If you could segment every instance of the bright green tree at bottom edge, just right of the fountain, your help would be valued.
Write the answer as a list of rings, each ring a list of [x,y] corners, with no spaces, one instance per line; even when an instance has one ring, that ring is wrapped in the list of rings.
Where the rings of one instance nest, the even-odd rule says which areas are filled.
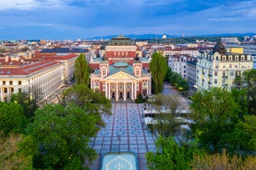
[[[193,153],[196,153],[196,147],[179,146],[175,143],[173,137],[159,137],[156,140],[156,153],[148,152],[146,154],[147,167],[150,170],[175,170],[190,169]],[[189,144],[188,144],[189,145]]]

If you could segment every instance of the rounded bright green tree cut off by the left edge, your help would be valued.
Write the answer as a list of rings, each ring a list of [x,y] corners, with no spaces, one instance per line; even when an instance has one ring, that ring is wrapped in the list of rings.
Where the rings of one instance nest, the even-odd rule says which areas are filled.
[[[26,124],[27,120],[20,104],[0,102],[0,131],[5,136],[10,132],[23,133]]]

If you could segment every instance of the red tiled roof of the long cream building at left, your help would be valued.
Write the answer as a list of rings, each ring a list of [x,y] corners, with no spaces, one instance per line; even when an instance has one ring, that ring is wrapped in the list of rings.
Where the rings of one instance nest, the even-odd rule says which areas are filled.
[[[44,70],[47,67],[58,65],[59,62],[41,61],[17,68],[0,68],[0,76],[26,76],[36,71]]]

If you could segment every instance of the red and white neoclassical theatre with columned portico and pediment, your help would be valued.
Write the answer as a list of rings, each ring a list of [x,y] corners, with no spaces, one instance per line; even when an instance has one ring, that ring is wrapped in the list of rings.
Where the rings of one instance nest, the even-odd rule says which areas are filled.
[[[149,58],[137,57],[133,40],[119,35],[105,47],[104,57],[91,58],[91,89],[115,101],[137,99],[151,94]]]

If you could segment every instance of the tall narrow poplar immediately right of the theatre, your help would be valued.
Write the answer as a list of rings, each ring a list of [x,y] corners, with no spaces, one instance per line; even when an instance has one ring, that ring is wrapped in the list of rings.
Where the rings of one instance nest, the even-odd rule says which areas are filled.
[[[161,53],[153,53],[149,67],[154,82],[155,94],[159,94],[164,89],[164,80],[168,69],[165,57]]]

